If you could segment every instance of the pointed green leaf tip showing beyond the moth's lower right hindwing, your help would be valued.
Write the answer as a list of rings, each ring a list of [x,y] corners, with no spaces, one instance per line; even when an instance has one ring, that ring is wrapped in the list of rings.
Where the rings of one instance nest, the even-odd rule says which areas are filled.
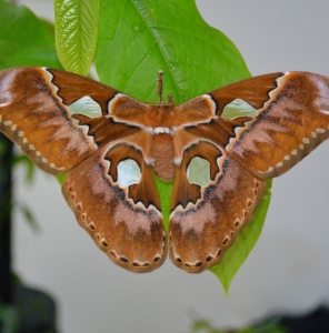
[[[271,201],[271,180],[267,181],[267,191],[250,223],[242,229],[232,246],[225,253],[222,261],[210,269],[221,282],[226,294],[229,292],[229,286],[235,275],[247,260],[260,236]]]

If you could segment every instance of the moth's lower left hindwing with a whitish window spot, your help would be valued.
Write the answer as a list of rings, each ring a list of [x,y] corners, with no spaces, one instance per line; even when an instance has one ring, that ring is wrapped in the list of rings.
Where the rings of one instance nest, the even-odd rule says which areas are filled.
[[[62,192],[79,224],[116,264],[142,273],[163,263],[160,202],[140,151],[104,144],[69,172]]]

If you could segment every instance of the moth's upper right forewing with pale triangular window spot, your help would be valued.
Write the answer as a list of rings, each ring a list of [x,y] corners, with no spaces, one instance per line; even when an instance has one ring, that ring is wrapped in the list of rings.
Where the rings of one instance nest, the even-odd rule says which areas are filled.
[[[326,77],[307,72],[267,74],[210,95],[218,101],[223,129],[240,122],[232,127],[228,153],[261,179],[288,171],[329,137]]]

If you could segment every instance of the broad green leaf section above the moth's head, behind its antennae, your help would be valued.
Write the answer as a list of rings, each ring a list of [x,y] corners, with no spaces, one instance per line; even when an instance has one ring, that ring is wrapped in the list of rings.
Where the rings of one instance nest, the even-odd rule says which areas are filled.
[[[201,18],[193,0],[100,0],[100,80],[142,101],[176,102],[250,75],[236,46]]]

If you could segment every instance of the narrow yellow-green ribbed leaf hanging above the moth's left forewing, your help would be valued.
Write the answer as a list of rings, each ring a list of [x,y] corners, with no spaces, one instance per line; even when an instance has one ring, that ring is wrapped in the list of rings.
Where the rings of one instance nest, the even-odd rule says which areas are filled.
[[[56,46],[66,70],[89,73],[98,33],[99,0],[56,0]]]

